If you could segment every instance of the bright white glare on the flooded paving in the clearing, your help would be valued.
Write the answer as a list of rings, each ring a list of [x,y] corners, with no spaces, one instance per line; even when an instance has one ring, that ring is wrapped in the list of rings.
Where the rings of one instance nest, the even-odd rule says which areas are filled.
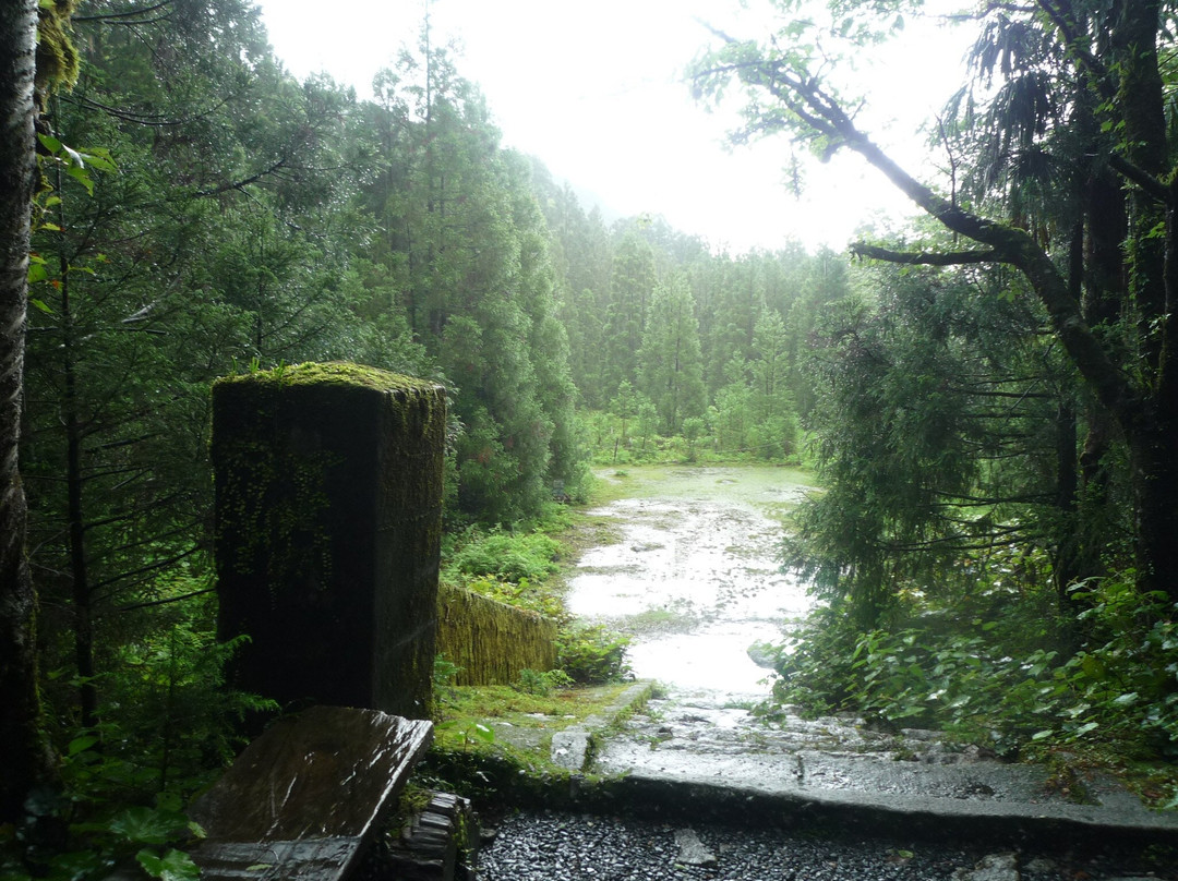
[[[783,625],[810,601],[802,584],[779,571],[781,528],[748,501],[747,483],[755,477],[777,499],[796,495],[798,485],[774,469],[724,469],[723,479],[717,471],[694,472],[699,497],[677,486],[673,498],[628,498],[594,511],[615,521],[622,537],[582,557],[568,608],[634,632],[630,663],[641,678],[763,695],[769,674],[747,649],[780,642]]]

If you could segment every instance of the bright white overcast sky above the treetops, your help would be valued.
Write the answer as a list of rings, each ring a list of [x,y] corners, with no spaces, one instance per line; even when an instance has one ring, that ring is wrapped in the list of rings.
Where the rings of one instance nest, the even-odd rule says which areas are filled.
[[[402,45],[416,45],[424,15],[423,0],[349,0],[336,14],[323,0],[258,6],[293,74],[325,71],[360,98]],[[694,104],[682,71],[712,39],[699,19],[754,35],[752,13],[740,7],[739,0],[434,0],[431,24],[436,42],[458,41],[458,72],[481,86],[504,145],[540,157],[558,180],[594,194],[608,217],[662,214],[714,249],[740,253],[789,239],[841,250],[860,224],[911,213],[853,155],[812,170],[799,200],[783,183],[783,138],[724,146],[732,120]],[[966,37],[921,24],[909,22],[886,60],[862,65],[866,127],[918,177],[932,173],[920,167],[929,154],[918,128],[960,82]]]

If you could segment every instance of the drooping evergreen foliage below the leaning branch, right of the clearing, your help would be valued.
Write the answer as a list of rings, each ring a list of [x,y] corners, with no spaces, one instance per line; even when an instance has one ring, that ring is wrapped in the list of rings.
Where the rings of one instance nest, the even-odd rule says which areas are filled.
[[[878,300],[829,310],[806,364],[827,492],[802,506],[794,539],[795,562],[867,623],[902,585],[959,589],[969,554],[1066,541],[1057,413],[1074,382],[1037,304],[1008,296],[1015,279],[874,277]]]

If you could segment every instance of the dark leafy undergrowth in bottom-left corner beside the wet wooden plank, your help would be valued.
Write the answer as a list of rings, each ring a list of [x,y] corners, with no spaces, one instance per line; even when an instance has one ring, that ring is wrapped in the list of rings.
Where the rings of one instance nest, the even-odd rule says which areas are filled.
[[[276,709],[225,688],[224,667],[245,637],[218,643],[213,612],[207,596],[183,611],[160,608],[101,677],[101,721],[81,730],[68,717],[51,720],[60,783],[35,789],[24,821],[0,827],[0,877],[78,881],[117,866],[141,877],[198,877],[186,850],[204,833],[185,806],[243,746],[236,723]],[[78,685],[64,673],[49,676],[52,690]]]

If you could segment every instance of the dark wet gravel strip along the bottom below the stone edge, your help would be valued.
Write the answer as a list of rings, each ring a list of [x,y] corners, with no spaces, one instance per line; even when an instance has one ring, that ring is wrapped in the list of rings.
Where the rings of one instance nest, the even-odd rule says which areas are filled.
[[[954,846],[879,839],[828,840],[803,833],[713,824],[688,829],[643,820],[521,812],[504,817],[494,842],[484,847],[478,877],[481,881],[1076,881],[1133,874],[1125,855],[1080,863],[1059,856],[1020,854],[1005,857],[1005,872],[997,867],[977,868],[994,856]],[[1157,870],[1156,865],[1153,868]],[[1145,868],[1138,869],[1144,875]],[[1160,873],[1156,877],[1174,875]]]

